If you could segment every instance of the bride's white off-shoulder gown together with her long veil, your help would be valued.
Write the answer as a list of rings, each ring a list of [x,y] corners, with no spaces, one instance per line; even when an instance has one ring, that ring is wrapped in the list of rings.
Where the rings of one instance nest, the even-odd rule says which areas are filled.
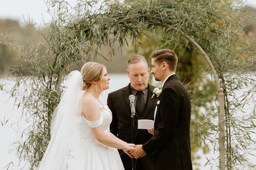
[[[68,75],[61,101],[53,113],[51,140],[38,170],[124,169],[117,149],[98,142],[92,132],[92,128],[101,126],[106,134],[110,134],[110,109],[107,105],[102,106],[100,118],[93,122],[81,116],[82,86],[80,71],[72,71]]]

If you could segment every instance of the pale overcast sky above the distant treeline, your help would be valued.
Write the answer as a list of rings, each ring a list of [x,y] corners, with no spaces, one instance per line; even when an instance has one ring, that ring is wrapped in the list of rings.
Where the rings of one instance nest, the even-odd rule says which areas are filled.
[[[74,4],[76,0],[68,2]],[[256,8],[256,0],[248,0],[247,4]],[[46,10],[44,0],[0,0],[0,18],[17,19],[20,23],[24,23],[24,18],[37,24],[43,24],[43,18],[50,22],[51,16]]]

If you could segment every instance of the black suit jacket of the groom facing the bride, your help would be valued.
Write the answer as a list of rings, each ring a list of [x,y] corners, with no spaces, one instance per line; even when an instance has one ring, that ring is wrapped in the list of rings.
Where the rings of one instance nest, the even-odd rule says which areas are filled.
[[[155,134],[142,146],[153,157],[155,169],[192,169],[190,114],[189,93],[172,75],[164,83],[157,105]]]

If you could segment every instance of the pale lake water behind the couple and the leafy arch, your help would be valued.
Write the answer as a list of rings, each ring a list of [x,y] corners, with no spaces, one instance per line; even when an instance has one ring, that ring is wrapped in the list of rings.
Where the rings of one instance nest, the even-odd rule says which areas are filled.
[[[129,83],[129,78],[125,74],[112,74],[110,77],[110,89],[104,91],[100,97],[103,104],[106,104],[108,93],[125,87]],[[0,79],[0,83],[1,82],[3,82],[3,79]],[[7,88],[11,88],[14,85],[14,81],[5,79],[4,82],[8,82]],[[155,84],[156,82],[153,81],[153,83]],[[26,122],[26,120],[22,118],[21,109],[14,107],[14,101],[15,99],[10,98],[8,93],[0,91],[0,122],[8,120],[6,125],[2,126],[0,124],[0,169],[5,169],[4,167],[10,162],[12,162],[12,165],[9,166],[9,169],[27,169],[23,162],[18,164],[14,143],[21,137],[21,132],[29,126],[29,122]],[[255,103],[252,104],[255,105]],[[255,134],[252,137],[256,140]],[[217,158],[219,152],[211,151],[209,154],[204,155],[203,152],[199,150],[197,154],[201,156],[201,159],[196,162],[201,165],[194,166],[194,169],[196,167],[199,169],[216,169],[215,165],[204,166],[204,164],[208,162],[209,158]]]

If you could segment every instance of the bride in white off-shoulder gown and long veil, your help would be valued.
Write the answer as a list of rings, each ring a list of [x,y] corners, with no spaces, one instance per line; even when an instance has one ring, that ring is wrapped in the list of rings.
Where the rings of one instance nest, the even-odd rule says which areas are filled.
[[[81,72],[68,75],[38,169],[124,169],[117,149],[131,156],[134,144],[110,132],[112,113],[99,100],[109,81],[105,66],[97,62],[87,62]]]

